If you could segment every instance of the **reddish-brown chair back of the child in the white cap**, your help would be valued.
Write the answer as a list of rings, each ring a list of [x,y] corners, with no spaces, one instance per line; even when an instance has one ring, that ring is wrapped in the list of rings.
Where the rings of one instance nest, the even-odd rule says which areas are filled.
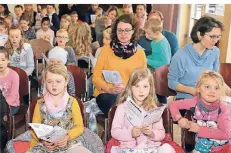
[[[67,65],[68,71],[70,71],[74,77],[75,81],[75,96],[78,98],[83,98],[87,92],[87,75],[84,70],[74,65]],[[85,98],[85,97],[84,97]],[[83,99],[81,99],[84,101]]]

